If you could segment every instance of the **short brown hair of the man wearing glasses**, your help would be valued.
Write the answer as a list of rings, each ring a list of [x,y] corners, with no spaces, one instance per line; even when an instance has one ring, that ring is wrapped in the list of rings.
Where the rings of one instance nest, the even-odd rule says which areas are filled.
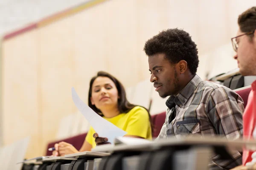
[[[239,15],[237,23],[242,32],[253,32],[256,29],[256,6],[247,9]],[[253,37],[253,34],[248,35]]]

